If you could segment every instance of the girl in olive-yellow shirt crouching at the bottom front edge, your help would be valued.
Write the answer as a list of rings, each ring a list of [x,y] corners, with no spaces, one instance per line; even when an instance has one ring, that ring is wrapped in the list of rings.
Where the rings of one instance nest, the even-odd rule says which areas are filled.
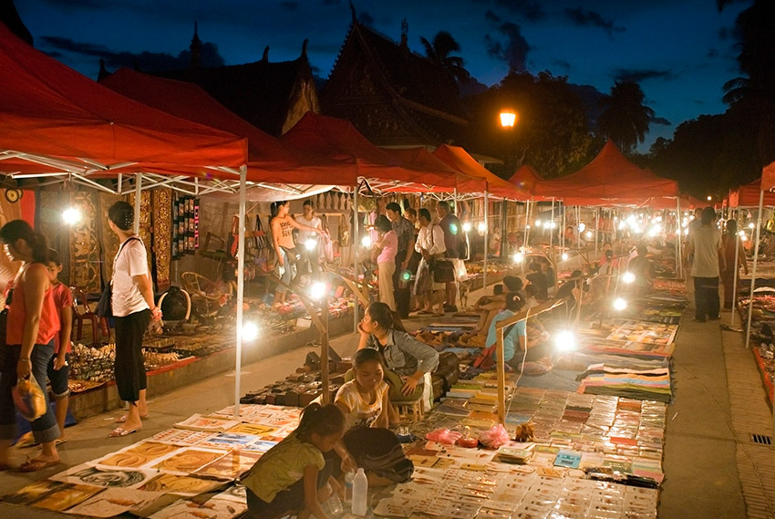
[[[299,519],[327,519],[320,503],[338,483],[331,477],[333,462],[324,454],[344,432],[345,415],[336,405],[307,406],[296,430],[243,474],[250,514],[263,519],[293,512]]]

